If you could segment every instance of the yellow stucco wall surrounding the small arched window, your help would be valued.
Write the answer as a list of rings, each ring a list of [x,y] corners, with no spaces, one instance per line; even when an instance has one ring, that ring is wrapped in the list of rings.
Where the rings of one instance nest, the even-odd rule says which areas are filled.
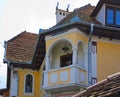
[[[32,95],[25,95],[24,93],[24,78],[26,74],[32,74],[34,76],[34,93]],[[32,70],[18,70],[19,81],[18,81],[18,97],[42,97],[41,91],[41,74],[40,71]]]

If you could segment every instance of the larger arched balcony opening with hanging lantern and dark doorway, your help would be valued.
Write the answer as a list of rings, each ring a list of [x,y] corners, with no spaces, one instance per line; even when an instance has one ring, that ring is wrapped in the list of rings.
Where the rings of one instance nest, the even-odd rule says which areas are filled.
[[[72,64],[72,45],[68,40],[60,40],[50,51],[51,69],[66,67]]]

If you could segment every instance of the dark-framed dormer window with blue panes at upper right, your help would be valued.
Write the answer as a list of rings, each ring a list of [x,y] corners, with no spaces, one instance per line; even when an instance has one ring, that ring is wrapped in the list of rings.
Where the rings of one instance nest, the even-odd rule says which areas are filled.
[[[120,8],[106,7],[106,25],[120,27]]]

